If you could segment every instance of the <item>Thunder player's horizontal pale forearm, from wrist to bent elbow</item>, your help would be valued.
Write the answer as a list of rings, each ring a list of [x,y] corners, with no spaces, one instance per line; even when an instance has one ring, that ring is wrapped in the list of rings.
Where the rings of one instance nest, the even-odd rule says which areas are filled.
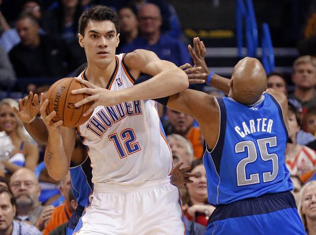
[[[188,88],[187,74],[181,70],[163,71],[146,82],[118,91],[120,102],[162,98]]]

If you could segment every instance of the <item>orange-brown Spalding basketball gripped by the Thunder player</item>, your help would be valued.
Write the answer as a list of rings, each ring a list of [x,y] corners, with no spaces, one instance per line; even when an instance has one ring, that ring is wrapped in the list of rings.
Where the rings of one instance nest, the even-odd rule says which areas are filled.
[[[90,108],[92,102],[83,106],[75,107],[74,104],[85,97],[87,94],[71,94],[72,90],[85,88],[84,84],[77,82],[73,77],[66,77],[52,84],[46,94],[49,100],[46,109],[47,115],[52,111],[56,111],[56,116],[52,121],[57,122],[63,120],[62,126],[75,127],[85,123],[90,115],[84,117],[83,114]]]

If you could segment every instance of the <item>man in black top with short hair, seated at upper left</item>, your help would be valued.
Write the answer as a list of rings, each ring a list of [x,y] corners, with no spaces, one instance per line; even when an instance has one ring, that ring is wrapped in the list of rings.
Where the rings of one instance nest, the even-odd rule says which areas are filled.
[[[21,15],[16,29],[21,42],[13,47],[9,57],[18,77],[60,77],[72,70],[66,45],[48,35],[40,35],[39,24],[33,16]]]

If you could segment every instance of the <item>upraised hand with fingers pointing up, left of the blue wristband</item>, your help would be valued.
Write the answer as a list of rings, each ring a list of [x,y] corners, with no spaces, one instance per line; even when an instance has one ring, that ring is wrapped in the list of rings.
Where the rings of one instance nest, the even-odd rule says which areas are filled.
[[[201,72],[206,75],[203,77],[203,80],[207,80],[209,74],[208,67],[205,62],[206,48],[202,41],[199,38],[193,39],[194,48],[191,45],[188,45],[189,53],[194,61],[194,67],[201,67]]]

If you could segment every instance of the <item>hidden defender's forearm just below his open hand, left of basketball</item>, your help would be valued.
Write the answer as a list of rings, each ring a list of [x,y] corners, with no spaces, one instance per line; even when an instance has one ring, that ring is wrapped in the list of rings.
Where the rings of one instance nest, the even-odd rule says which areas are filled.
[[[35,117],[31,123],[24,123],[24,127],[38,144],[47,143],[48,131],[41,118]]]

